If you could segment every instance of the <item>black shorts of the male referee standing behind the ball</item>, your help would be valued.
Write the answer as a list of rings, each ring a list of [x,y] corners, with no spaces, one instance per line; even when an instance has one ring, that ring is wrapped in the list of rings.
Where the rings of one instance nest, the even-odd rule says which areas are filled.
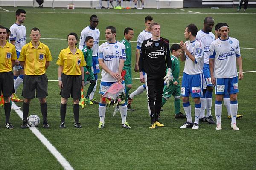
[[[22,96],[26,99],[46,98],[48,88],[48,78],[43,75],[24,75]]]

